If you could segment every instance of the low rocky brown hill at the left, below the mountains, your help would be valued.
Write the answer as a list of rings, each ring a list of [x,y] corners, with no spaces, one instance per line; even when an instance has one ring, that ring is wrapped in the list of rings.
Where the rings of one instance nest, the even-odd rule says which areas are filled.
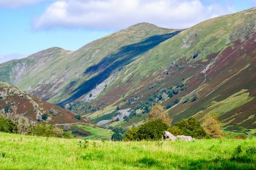
[[[13,106],[16,106],[16,108]],[[2,114],[14,112],[17,109],[17,113],[38,122],[92,124],[87,119],[75,119],[74,113],[57,105],[44,102],[38,97],[29,95],[23,90],[4,82],[0,82],[0,108]]]

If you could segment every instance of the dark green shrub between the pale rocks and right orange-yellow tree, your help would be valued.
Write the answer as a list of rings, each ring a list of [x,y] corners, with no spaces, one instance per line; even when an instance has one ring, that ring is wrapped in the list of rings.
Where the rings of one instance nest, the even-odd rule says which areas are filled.
[[[195,118],[182,119],[181,121],[175,123],[178,129],[182,131],[182,135],[192,136],[195,138],[208,138],[209,134],[205,132],[203,127],[201,127],[200,122]]]

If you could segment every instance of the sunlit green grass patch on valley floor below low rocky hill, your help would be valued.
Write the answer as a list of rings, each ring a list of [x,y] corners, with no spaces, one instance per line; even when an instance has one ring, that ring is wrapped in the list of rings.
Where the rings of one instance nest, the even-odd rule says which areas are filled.
[[[113,132],[111,132],[110,130],[99,127],[84,126],[81,124],[78,124],[77,126],[85,131],[90,132],[92,134],[91,136],[111,137],[113,134]]]

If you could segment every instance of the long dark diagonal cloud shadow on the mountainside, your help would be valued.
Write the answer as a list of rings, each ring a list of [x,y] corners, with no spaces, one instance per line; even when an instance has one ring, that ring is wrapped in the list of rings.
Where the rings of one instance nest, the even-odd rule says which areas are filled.
[[[121,69],[122,67],[130,64],[138,55],[149,51],[161,42],[177,35],[180,32],[181,31],[176,31],[169,34],[154,35],[139,43],[121,47],[117,53],[104,57],[98,64],[91,66],[84,71],[84,75],[99,72],[98,75],[83,82],[74,91],[72,91],[72,96],[70,98],[63,102],[59,102],[58,105],[63,106],[68,102],[78,99],[106,80],[115,70]],[[72,84],[74,85],[75,83],[76,82],[73,82]]]

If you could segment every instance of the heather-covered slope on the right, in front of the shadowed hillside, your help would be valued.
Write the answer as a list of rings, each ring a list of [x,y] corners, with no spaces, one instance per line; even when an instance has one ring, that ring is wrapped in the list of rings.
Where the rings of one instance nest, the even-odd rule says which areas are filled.
[[[224,127],[256,128],[255,49],[255,8],[206,20],[126,66],[118,73],[119,78],[93,102],[100,105],[104,100],[109,105],[85,115],[100,120],[106,117],[106,112],[115,112],[118,105],[140,113],[153,103],[167,106],[179,99],[168,109],[174,122],[216,113],[224,121]],[[170,87],[178,91],[173,97],[167,96]],[[198,96],[195,101],[194,94]],[[132,126],[142,122],[143,119],[133,117],[128,122],[122,120],[110,125]]]

